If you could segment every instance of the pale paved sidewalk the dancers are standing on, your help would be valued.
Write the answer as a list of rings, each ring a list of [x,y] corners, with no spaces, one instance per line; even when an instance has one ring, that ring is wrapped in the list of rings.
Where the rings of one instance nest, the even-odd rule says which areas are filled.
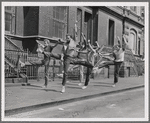
[[[41,88],[44,80],[30,80],[26,86],[5,86],[5,112],[28,110],[42,106],[54,106],[66,102],[73,102],[85,98],[102,96],[118,91],[144,87],[144,76],[119,78],[116,87],[112,87],[113,78],[91,79],[88,87],[82,90],[79,81],[66,84],[66,92],[61,94],[61,79],[49,82],[46,89]]]

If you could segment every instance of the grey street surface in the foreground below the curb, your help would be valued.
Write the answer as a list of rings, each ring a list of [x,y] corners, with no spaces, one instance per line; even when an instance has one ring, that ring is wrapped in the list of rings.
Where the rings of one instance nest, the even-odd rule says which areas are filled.
[[[144,118],[144,112],[144,88],[141,88],[6,118]]]

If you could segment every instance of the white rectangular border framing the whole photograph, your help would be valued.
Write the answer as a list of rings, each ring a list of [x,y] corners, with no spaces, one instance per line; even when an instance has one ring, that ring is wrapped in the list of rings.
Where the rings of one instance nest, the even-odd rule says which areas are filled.
[[[101,1],[100,1],[101,2]],[[32,3],[32,4],[31,4]],[[27,118],[22,118],[23,120],[17,120],[16,118],[15,119],[13,119],[13,118],[11,118],[11,120],[7,120],[7,118],[4,118],[4,107],[5,107],[5,102],[4,102],[4,100],[5,100],[5,98],[4,98],[4,95],[5,95],[5,84],[4,84],[4,6],[6,5],[6,4],[8,4],[9,6],[13,6],[13,5],[15,5],[15,6],[33,6],[33,4],[35,4],[36,3],[36,5],[37,6],[43,6],[43,4],[45,4],[45,6],[48,6],[48,3],[51,3],[51,2],[36,2],[36,1],[34,1],[34,2],[2,2],[1,3],[1,99],[2,99],[2,101],[1,101],[1,118],[2,118],[2,120],[3,121],[122,121],[124,118],[115,118],[115,120],[113,120],[112,118],[110,118],[109,120],[105,120],[105,119],[103,119],[103,118],[96,118],[96,120],[94,120],[95,118],[90,118],[91,120],[85,120],[85,119],[72,119],[72,120],[70,120],[70,119],[67,119],[67,118],[65,118],[65,120],[64,119],[62,119],[62,118],[60,118],[60,120],[56,120],[55,118],[53,119],[53,118],[49,118],[50,120],[43,120],[43,118],[40,118],[40,120],[39,119],[36,119],[36,120],[31,120],[31,118],[29,118],[29,119],[27,119]],[[42,4],[41,4],[42,3]],[[59,3],[61,3],[61,2],[59,2]],[[67,3],[69,3],[69,2],[67,2]],[[72,4],[73,3],[73,5],[70,5],[70,6],[76,6],[77,4],[80,4],[80,6],[87,6],[87,5],[89,5],[90,4],[90,6],[93,6],[94,5],[94,3],[93,2],[87,2],[87,3],[85,3],[85,1],[83,1],[82,0],[82,2],[70,2],[69,4]],[[77,4],[76,4],[77,3]],[[129,3],[127,3],[127,2],[120,2],[121,4],[123,4],[124,6],[128,6],[128,4],[130,4],[131,6],[132,6],[132,4],[135,4],[136,2],[129,2]],[[117,2],[117,5],[119,6],[120,5],[120,3],[118,3]],[[149,101],[149,36],[148,36],[148,34],[149,34],[149,4],[148,4],[148,2],[137,2],[137,4],[138,5],[140,5],[141,6],[141,4],[145,4],[145,100],[146,99],[148,99],[147,101],[145,101],[145,103],[146,102],[148,102]],[[24,4],[24,5],[23,5]],[[30,5],[28,5],[28,4],[30,4]],[[106,5],[107,4],[107,6],[108,6],[108,2],[102,2],[101,3],[102,5],[101,6],[103,6],[103,5]],[[116,2],[110,2],[109,4],[111,4],[110,6],[116,6]],[[54,2],[54,4],[51,4],[51,6],[58,6],[58,3],[57,2]],[[68,4],[67,4],[68,5]],[[35,5],[34,5],[35,6]],[[61,6],[66,6],[66,2],[63,2],[62,3],[62,5]],[[96,1],[96,6],[97,6],[97,1]],[[148,104],[149,104],[149,102],[148,102]],[[145,118],[145,120],[143,120],[143,118],[141,118],[141,119],[138,119],[138,121],[147,121],[148,119],[147,118],[149,118],[149,105],[148,104],[145,104],[145,115],[146,115],[146,118]],[[103,120],[100,120],[100,119],[103,119]],[[107,118],[108,119],[108,118]],[[130,119],[130,120],[127,120],[128,118],[125,118],[124,120],[126,120],[126,121],[136,121],[136,120],[132,120],[132,119]],[[135,118],[134,118],[135,119]]]

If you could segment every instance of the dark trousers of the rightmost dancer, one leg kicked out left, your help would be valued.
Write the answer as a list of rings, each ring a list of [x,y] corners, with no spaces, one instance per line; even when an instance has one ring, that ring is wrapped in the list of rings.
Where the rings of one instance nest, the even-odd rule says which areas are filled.
[[[122,64],[122,61],[121,62],[107,61],[107,62],[99,65],[99,68],[102,68],[102,67],[105,67],[105,66],[108,66],[108,65],[114,65],[114,83],[117,83],[121,64]]]

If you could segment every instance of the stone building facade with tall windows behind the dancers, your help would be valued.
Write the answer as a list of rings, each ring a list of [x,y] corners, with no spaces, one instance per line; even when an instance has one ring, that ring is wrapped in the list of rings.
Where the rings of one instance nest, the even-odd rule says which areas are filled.
[[[76,28],[76,27],[77,28]],[[95,45],[112,47],[125,34],[134,56],[144,56],[143,6],[6,6],[5,36],[18,47],[36,53],[36,40],[65,40],[81,33]],[[54,49],[60,53],[61,45]]]

